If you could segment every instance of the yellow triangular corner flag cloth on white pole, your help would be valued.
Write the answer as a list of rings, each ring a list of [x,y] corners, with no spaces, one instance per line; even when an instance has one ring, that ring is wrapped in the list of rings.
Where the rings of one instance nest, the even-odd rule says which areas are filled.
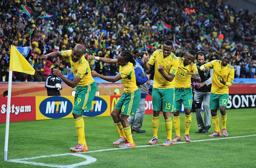
[[[31,75],[35,74],[34,68],[29,64],[26,58],[13,45],[11,45],[9,70],[28,73]]]

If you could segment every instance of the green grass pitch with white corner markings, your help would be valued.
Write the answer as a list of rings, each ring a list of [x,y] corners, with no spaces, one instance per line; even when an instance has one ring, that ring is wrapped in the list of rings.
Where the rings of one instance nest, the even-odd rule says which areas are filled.
[[[8,160],[30,158],[24,159],[24,163],[3,161],[5,123],[0,123],[0,167],[256,167],[255,112],[254,108],[227,110],[228,138],[208,137],[214,132],[213,125],[208,134],[196,134],[198,126],[196,116],[192,114],[191,142],[184,142],[185,114],[181,113],[183,143],[174,143],[170,147],[148,146],[148,141],[153,136],[152,115],[145,115],[142,129],[146,133],[132,134],[136,146],[139,147],[132,149],[117,149],[118,146],[112,145],[118,139],[118,133],[111,116],[84,117],[89,151],[82,153],[69,150],[77,142],[73,118],[11,122]],[[220,116],[219,111],[218,115]],[[172,128],[174,138],[174,126]],[[243,137],[246,135],[251,136]],[[158,138],[159,144],[166,140],[162,114]],[[92,163],[88,164],[89,161]]]

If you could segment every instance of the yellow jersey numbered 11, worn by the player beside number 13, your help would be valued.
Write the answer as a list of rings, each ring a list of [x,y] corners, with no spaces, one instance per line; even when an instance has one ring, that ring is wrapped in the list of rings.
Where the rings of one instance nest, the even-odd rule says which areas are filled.
[[[191,63],[188,65],[184,65],[183,57],[178,57],[179,60],[179,69],[174,78],[175,80],[175,88],[190,88],[191,84],[191,73],[198,74],[198,69],[196,64]]]

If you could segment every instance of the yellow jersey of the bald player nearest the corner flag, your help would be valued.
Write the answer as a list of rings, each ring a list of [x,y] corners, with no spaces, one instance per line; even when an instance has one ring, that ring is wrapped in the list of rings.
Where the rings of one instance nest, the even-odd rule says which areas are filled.
[[[91,77],[91,69],[86,61],[85,57],[82,56],[78,61],[73,62],[71,60],[72,50],[61,51],[61,56],[69,57],[70,65],[74,76],[82,78],[77,86],[86,86],[94,82],[93,77]]]

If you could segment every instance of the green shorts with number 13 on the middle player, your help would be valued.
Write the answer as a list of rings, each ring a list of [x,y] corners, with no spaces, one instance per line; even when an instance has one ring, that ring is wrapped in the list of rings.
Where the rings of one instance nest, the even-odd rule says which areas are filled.
[[[176,112],[173,88],[152,90],[153,111]]]

